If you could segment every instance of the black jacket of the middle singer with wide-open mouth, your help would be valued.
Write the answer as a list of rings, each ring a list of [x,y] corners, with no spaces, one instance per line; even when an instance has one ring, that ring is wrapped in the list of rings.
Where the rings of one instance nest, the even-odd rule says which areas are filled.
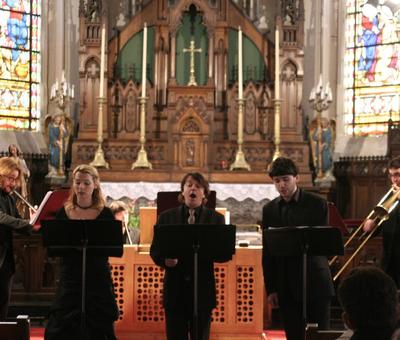
[[[214,210],[203,206],[197,223],[224,224],[224,216]],[[185,224],[184,206],[181,205],[163,212],[158,218],[157,224]],[[173,267],[165,266],[165,258],[161,257],[158,249],[158,241],[153,239],[150,255],[154,263],[165,269],[164,277],[164,308],[167,311],[189,308],[193,303],[193,256],[179,258],[178,264]],[[216,307],[214,262],[207,259],[204,254],[199,254],[199,309],[212,310]]]

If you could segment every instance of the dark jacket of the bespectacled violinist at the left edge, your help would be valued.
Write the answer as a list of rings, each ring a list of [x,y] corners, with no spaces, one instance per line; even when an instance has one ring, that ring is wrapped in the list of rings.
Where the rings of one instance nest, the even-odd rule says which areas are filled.
[[[5,261],[15,271],[13,230],[27,233],[32,226],[21,219],[14,198],[0,189],[0,269]]]

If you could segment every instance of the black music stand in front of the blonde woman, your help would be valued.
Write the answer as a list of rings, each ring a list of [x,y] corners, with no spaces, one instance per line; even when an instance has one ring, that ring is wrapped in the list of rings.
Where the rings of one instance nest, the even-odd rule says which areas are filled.
[[[121,257],[122,222],[117,220],[42,221],[43,246],[49,256],[68,257],[82,252],[81,339],[86,337],[86,256]]]

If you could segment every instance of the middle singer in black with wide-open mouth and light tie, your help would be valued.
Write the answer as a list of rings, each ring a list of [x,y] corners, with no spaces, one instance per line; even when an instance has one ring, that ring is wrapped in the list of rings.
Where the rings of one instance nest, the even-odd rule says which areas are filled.
[[[209,184],[200,173],[188,173],[181,181],[179,207],[163,212],[157,224],[209,223],[224,224],[224,216],[204,204]],[[153,239],[150,255],[157,265],[165,268],[164,309],[168,340],[193,338],[193,256],[177,259],[160,256]],[[199,254],[198,268],[199,331],[198,339],[207,340],[210,334],[211,312],[216,307],[214,263]]]

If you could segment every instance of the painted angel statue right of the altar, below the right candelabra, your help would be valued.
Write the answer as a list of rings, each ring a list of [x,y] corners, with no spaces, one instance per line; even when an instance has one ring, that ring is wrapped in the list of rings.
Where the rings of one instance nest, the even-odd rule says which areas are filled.
[[[318,178],[332,176],[333,147],[335,143],[335,121],[315,118],[310,124],[312,160]]]

